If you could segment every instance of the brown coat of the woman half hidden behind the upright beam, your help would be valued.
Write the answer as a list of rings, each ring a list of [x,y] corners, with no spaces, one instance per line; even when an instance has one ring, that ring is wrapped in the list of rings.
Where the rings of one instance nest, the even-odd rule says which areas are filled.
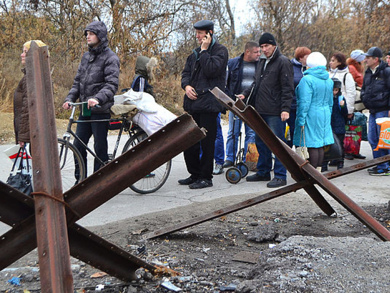
[[[26,71],[24,68],[22,71],[24,76],[19,81],[18,87],[16,87],[14,93],[15,143],[18,143],[18,141],[30,142]]]

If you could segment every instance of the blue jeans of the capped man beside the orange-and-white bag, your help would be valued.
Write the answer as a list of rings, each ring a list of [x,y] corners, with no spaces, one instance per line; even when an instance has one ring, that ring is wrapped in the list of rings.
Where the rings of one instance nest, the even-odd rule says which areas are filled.
[[[371,149],[374,150],[379,142],[380,126],[375,123],[375,119],[388,117],[388,111],[381,111],[376,113],[370,113],[370,118],[368,120],[368,142],[371,145]],[[379,151],[372,151],[372,157],[374,159],[386,156],[390,154],[390,150],[379,149]],[[379,164],[378,169],[387,169],[388,162]]]

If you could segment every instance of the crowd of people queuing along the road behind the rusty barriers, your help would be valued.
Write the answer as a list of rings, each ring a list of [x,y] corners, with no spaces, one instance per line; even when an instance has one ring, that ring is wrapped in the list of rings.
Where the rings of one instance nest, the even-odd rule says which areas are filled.
[[[207,135],[184,151],[190,175],[178,180],[180,185],[188,185],[191,189],[211,187],[213,174],[221,174],[223,168],[231,167],[237,161],[242,122],[229,113],[224,158],[220,114],[225,109],[209,91],[215,86],[233,100],[242,99],[247,105],[253,106],[273,133],[289,147],[307,147],[308,160],[319,171],[327,170],[328,164],[343,168],[344,157],[365,158],[360,154],[343,153],[341,159],[332,162],[324,160],[324,147],[333,144],[334,139],[338,139],[341,144],[344,141],[345,125],[357,111],[355,100],[356,95],[360,94],[360,104],[369,110],[368,141],[373,158],[389,154],[389,150],[374,149],[380,134],[375,119],[390,116],[390,52],[386,62],[382,60],[383,53],[378,47],[371,47],[366,53],[353,50],[349,58],[342,52],[335,52],[328,63],[320,52],[298,47],[294,58],[289,60],[280,51],[274,36],[264,33],[258,42],[247,42],[241,55],[229,59],[228,49],[213,34],[212,21],[201,20],[193,27],[199,46],[189,54],[182,71],[181,86],[185,91],[183,108],[192,115],[199,127],[206,129]],[[88,51],[81,58],[63,108],[69,109],[69,103],[79,99],[87,102],[88,109],[91,109],[91,114],[81,114],[79,120],[105,120],[110,118],[110,107],[114,104],[114,95],[118,90],[119,58],[108,47],[107,27],[102,21],[88,24],[84,36]],[[45,46],[41,41],[35,42]],[[23,45],[23,65],[30,43]],[[132,83],[135,91],[153,94],[152,86],[148,83],[152,79],[150,61],[143,56],[137,59],[136,76]],[[24,76],[14,95],[15,136],[21,146],[29,142],[26,99]],[[289,127],[288,141],[286,125]],[[84,143],[88,143],[93,135],[96,155],[103,162],[108,160],[107,123],[77,124],[76,134]],[[286,168],[278,158],[275,158],[272,166],[271,150],[245,125],[244,154],[250,142],[255,142],[259,156],[256,172],[247,176],[246,180],[267,181],[270,188],[286,185]],[[77,141],[75,146],[86,163],[84,147]],[[245,161],[245,156],[243,159]],[[95,161],[94,171],[100,167],[101,164]],[[272,168],[274,178],[271,180]],[[390,175],[388,162],[370,168],[368,172],[370,175]],[[77,183],[77,169],[75,177]]]

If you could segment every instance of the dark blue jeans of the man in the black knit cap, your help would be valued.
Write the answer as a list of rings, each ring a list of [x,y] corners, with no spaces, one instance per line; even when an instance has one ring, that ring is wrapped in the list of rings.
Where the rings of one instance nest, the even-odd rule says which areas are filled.
[[[284,132],[286,130],[286,123],[282,122],[280,116],[276,115],[261,115],[267,125],[271,128],[272,132],[285,141]],[[270,176],[272,169],[272,152],[268,149],[263,140],[256,134],[255,136],[256,148],[258,152],[257,160],[257,174],[262,177]],[[275,158],[274,164],[274,177],[286,180],[287,170],[278,158]]]

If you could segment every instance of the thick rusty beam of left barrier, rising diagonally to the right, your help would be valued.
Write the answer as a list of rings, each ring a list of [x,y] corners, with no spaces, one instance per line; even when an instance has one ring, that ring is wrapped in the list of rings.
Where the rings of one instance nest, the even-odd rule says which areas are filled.
[[[75,223],[153,171],[159,164],[172,159],[204,137],[204,130],[199,129],[191,116],[188,114],[179,116],[135,148],[67,191],[64,197],[69,204],[68,225]],[[0,254],[0,269],[8,267],[36,247],[35,230],[29,231],[28,226],[31,217],[34,222],[34,216],[30,216],[25,219],[26,224],[21,223],[0,238],[0,251],[7,251],[7,254]],[[18,232],[14,232],[16,229]],[[18,247],[22,247],[22,251]]]

